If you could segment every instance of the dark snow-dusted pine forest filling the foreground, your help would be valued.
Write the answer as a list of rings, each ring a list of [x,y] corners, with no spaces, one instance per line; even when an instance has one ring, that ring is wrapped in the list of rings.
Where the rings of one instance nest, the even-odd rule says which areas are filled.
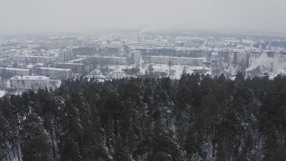
[[[187,74],[0,100],[0,160],[285,161],[286,77]]]

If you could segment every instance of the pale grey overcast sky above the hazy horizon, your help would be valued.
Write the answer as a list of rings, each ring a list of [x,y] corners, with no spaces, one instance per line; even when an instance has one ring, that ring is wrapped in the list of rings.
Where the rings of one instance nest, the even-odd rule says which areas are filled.
[[[0,32],[285,32],[286,0],[0,0]]]

